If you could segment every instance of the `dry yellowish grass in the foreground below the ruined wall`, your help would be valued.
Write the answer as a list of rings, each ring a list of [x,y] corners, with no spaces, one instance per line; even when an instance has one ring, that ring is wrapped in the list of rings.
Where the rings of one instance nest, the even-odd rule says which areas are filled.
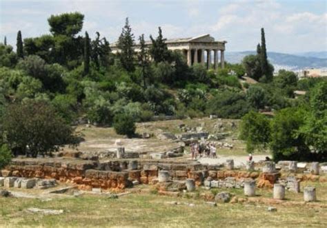
[[[317,185],[319,205],[327,204],[326,184]],[[226,190],[226,189],[225,189]],[[219,190],[221,191],[221,190]],[[229,190],[226,190],[229,191]],[[241,189],[231,190],[242,195]],[[271,191],[260,190],[259,197],[271,198]],[[196,194],[195,194],[196,195]],[[302,194],[287,194],[288,200],[301,200]],[[181,205],[167,202],[178,201]],[[184,205],[193,203],[194,207]],[[5,227],[326,227],[326,207],[308,205],[268,205],[259,203],[219,204],[210,207],[203,200],[172,198],[155,194],[129,194],[118,199],[84,195],[72,198],[39,199],[1,198],[0,226]],[[31,214],[26,209],[63,209],[61,215]]]

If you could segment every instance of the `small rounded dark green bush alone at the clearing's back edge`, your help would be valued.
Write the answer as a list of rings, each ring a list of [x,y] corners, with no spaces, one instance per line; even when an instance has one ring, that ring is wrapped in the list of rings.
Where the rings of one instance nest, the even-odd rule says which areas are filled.
[[[117,114],[114,118],[114,128],[117,134],[126,134],[131,137],[135,134],[135,122],[131,116]]]

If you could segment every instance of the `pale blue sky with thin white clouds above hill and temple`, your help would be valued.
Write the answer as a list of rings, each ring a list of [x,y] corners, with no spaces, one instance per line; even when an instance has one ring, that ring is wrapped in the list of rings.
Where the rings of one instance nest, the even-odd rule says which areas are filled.
[[[83,31],[117,41],[126,17],[135,39],[144,34],[184,38],[210,34],[227,41],[226,51],[256,50],[260,28],[268,51],[327,51],[327,0],[0,0],[0,41],[50,34],[48,17],[63,12],[85,15]],[[81,33],[83,34],[83,33]]]

